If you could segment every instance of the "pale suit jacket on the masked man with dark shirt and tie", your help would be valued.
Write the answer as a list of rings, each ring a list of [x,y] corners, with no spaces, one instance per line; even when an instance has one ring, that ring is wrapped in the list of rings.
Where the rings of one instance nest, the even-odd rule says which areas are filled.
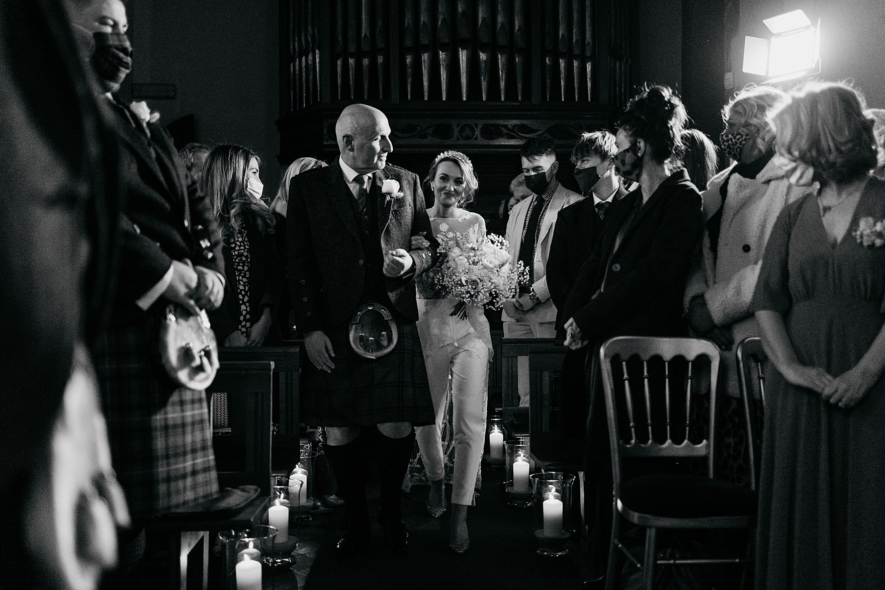
[[[507,243],[510,249],[510,260],[512,264],[516,264],[519,260],[519,245],[522,242],[522,229],[526,225],[526,216],[528,214],[528,206],[532,204],[533,198],[524,198],[510,212],[510,219],[507,221]],[[544,213],[543,221],[541,221],[541,231],[538,234],[538,244],[535,247],[534,260],[534,278],[535,282],[532,287],[538,295],[538,303],[531,307],[526,314],[531,315],[535,322],[555,322],[556,306],[550,299],[550,288],[547,284],[547,260],[550,258],[550,245],[553,242],[554,229],[559,212],[573,203],[581,201],[583,197],[573,190],[568,190],[562,184],[557,187],[550,197],[550,205]],[[501,319],[504,322],[512,322],[506,313],[501,312]]]

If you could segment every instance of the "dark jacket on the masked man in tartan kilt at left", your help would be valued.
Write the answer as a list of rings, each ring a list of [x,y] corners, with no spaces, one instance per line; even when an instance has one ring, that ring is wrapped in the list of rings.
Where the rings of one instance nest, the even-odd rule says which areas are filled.
[[[157,123],[148,136],[127,120],[127,105],[112,103],[110,121],[120,140],[119,174],[127,190],[124,219],[120,221],[119,288],[112,323],[137,322],[142,310],[135,301],[165,276],[173,260],[224,276],[221,233],[212,206],[197,190],[173,145]],[[197,243],[192,230],[202,227],[211,244]],[[207,256],[208,255],[208,256]]]

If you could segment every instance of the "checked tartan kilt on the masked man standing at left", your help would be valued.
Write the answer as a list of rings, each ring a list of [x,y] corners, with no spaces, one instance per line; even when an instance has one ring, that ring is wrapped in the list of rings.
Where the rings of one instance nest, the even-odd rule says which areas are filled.
[[[157,322],[114,326],[94,346],[112,464],[135,519],[219,492],[206,394],[166,377]]]

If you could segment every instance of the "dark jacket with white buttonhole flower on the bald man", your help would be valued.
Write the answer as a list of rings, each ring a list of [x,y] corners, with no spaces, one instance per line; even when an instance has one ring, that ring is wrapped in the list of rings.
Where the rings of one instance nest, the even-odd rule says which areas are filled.
[[[302,333],[343,325],[361,303],[366,253],[350,205],[353,194],[339,162],[293,176],[289,184],[289,294]],[[387,179],[399,182],[402,196],[381,193]],[[435,265],[438,245],[418,175],[390,165],[377,170],[369,198],[378,199],[382,254],[402,248],[412,256],[412,268],[404,276],[385,277],[385,284],[396,311],[417,322],[415,277]],[[430,245],[412,250],[412,236],[422,231]]]

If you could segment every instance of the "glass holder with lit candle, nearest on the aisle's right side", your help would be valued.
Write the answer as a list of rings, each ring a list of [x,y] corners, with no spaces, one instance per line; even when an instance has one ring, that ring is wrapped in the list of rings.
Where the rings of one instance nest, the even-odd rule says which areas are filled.
[[[540,555],[568,555],[572,536],[571,507],[574,476],[561,471],[535,473],[532,481],[532,521]]]

